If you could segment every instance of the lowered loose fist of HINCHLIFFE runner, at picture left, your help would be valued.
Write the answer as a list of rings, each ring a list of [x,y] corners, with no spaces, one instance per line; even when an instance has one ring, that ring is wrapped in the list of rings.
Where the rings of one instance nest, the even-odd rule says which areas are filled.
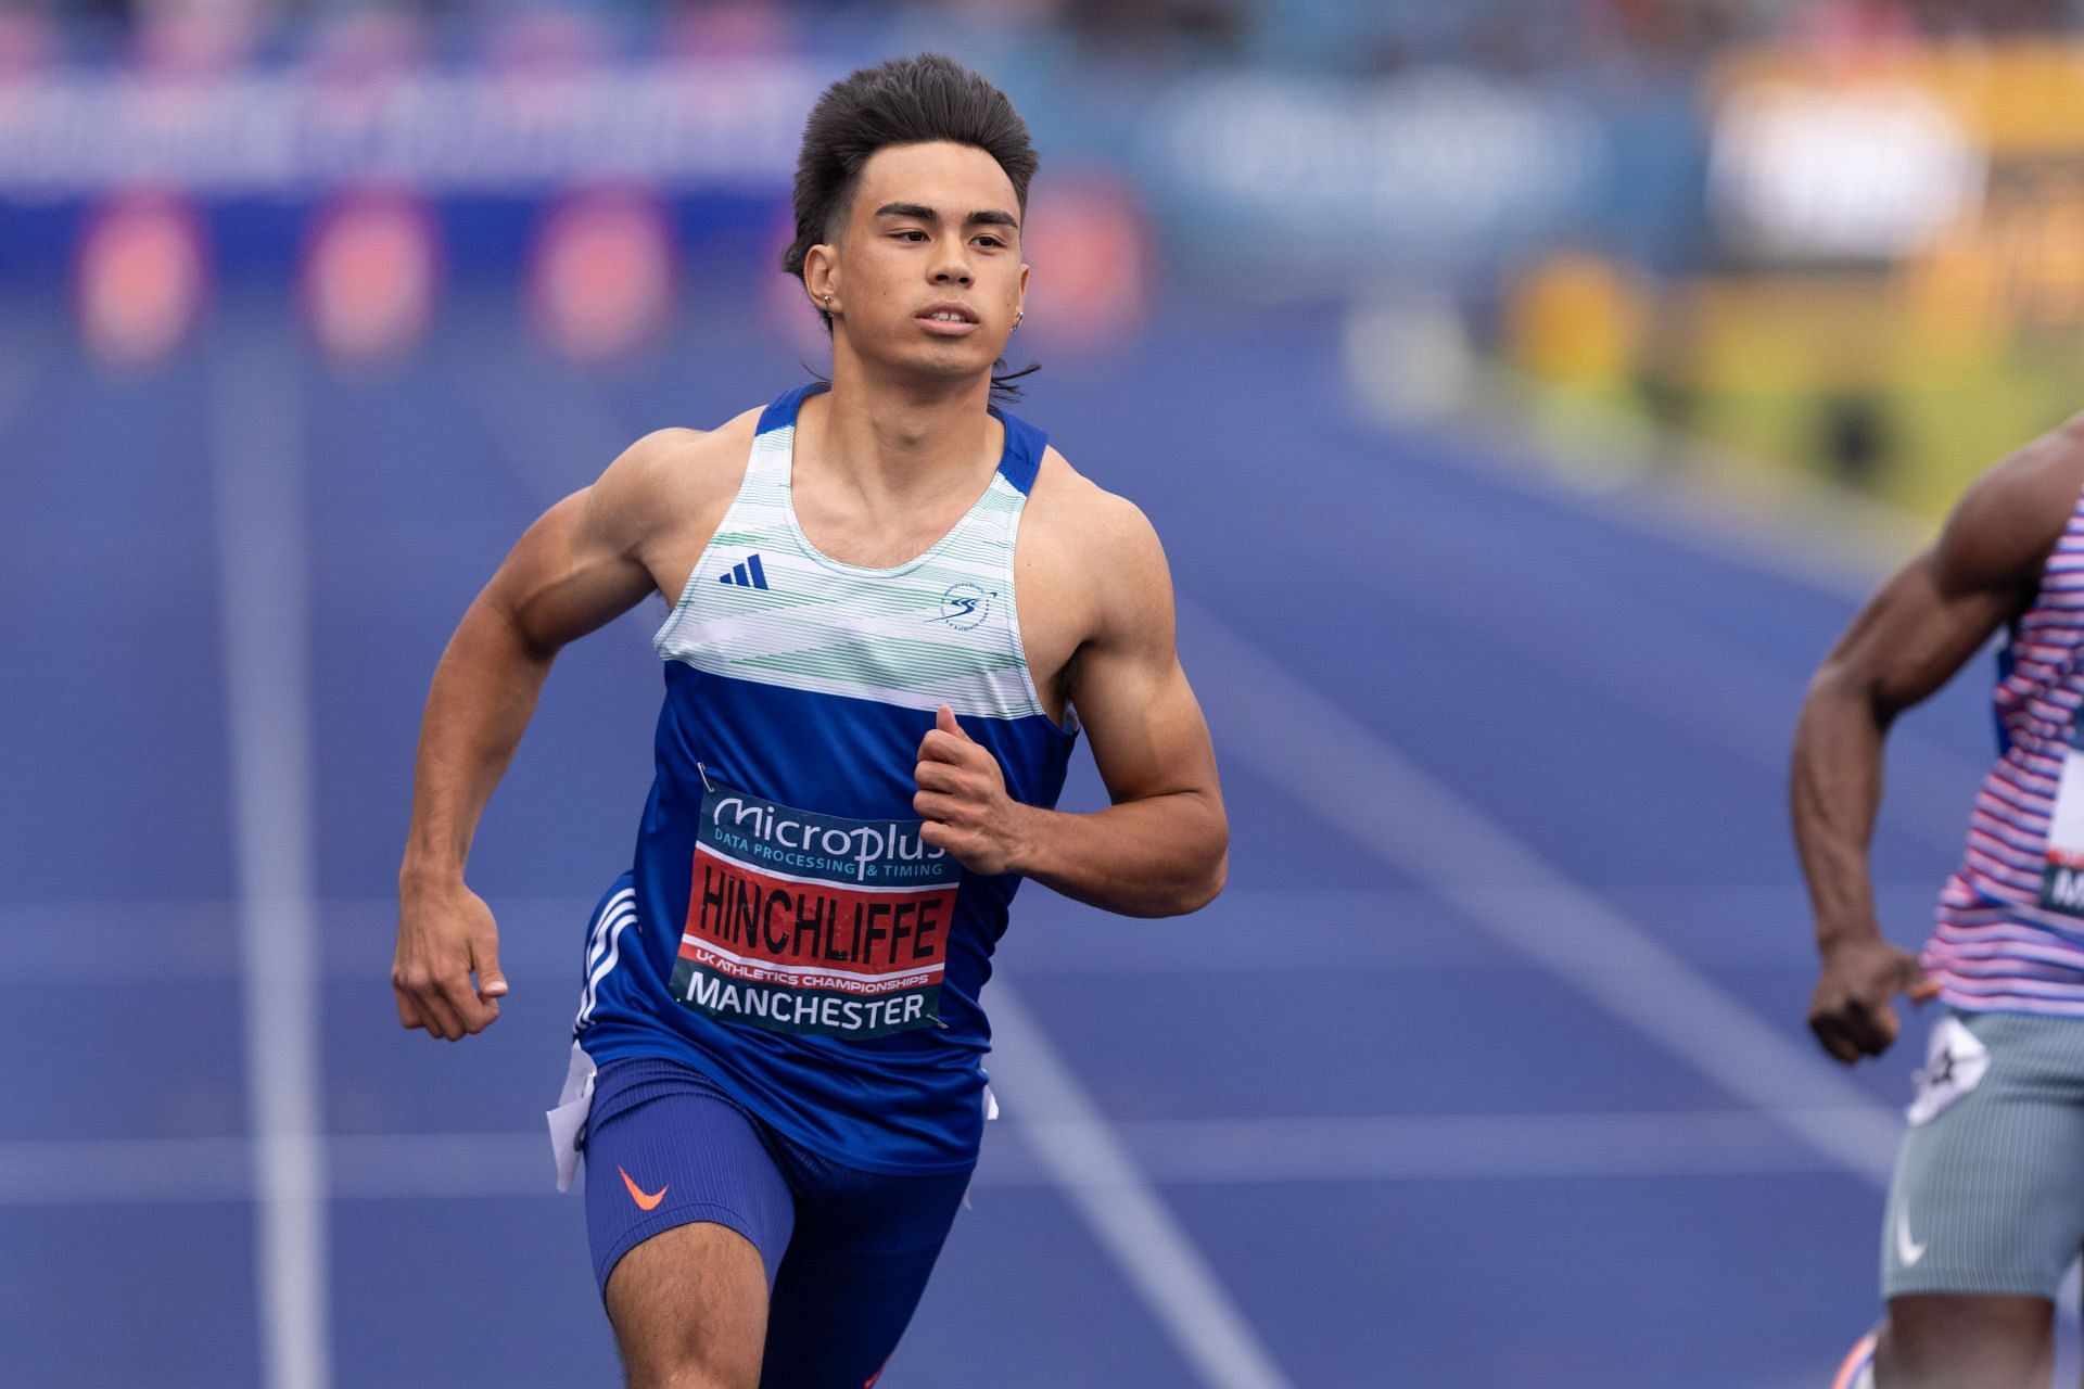
[[[444,1041],[492,1027],[506,977],[500,975],[500,931],[483,898],[463,883],[402,887],[392,989],[402,1027],[425,1027]]]

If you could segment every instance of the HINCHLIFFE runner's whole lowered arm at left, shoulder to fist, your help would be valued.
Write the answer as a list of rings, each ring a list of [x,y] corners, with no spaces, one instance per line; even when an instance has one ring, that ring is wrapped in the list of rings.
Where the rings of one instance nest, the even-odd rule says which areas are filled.
[[[673,435],[634,444],[521,535],[442,652],[421,718],[398,870],[398,1020],[454,1041],[498,1016],[492,912],[463,885],[477,818],[506,773],[556,652],[654,591],[642,560]],[[477,973],[477,987],[469,975]]]

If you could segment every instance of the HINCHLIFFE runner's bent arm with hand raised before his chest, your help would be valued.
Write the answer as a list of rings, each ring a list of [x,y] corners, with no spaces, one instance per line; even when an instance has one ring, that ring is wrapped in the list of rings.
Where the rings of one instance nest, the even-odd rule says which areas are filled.
[[[982,873],[1019,873],[1125,916],[1207,906],[1230,864],[1230,823],[1215,750],[1173,646],[1173,594],[1157,533],[1127,502],[1105,498],[1086,529],[1098,587],[1092,637],[1071,664],[1077,708],[1111,806],[1094,814],[984,798],[990,756],[942,712],[919,750],[925,835]],[[979,810],[979,806],[996,806]]]

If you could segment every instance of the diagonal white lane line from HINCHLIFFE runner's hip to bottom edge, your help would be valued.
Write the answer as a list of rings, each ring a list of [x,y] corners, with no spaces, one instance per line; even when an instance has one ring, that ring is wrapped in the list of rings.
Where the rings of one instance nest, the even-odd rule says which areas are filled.
[[[1288,1377],[1200,1249],[1004,979],[992,989],[992,1075],[1004,1089],[1007,1112],[1029,1120],[1029,1143],[1044,1170],[1202,1383],[1286,1387]]]

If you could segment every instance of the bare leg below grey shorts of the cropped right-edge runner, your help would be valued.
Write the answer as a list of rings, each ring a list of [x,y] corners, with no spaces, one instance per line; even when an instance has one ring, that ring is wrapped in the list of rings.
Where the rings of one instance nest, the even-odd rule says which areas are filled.
[[[1874,1389],[2040,1389],[2053,1360],[2040,1297],[1919,1293],[1888,1304]]]

